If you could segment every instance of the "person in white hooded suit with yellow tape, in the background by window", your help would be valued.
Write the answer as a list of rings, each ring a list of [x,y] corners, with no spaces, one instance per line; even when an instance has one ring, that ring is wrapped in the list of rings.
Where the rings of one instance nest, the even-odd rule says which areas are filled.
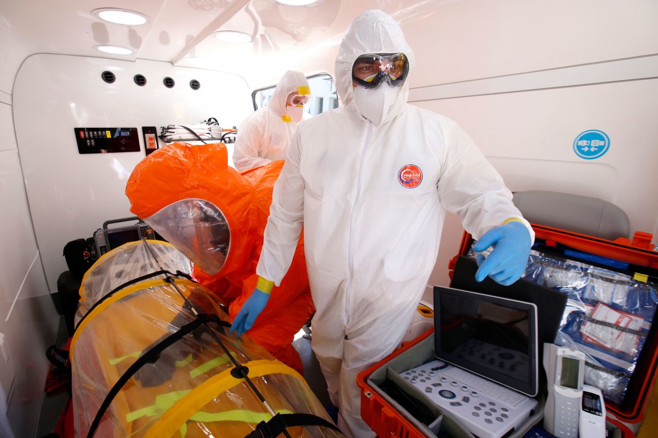
[[[290,140],[302,119],[311,118],[304,105],[311,99],[309,81],[289,70],[274,89],[268,105],[242,122],[233,151],[233,164],[243,170],[286,158]]]

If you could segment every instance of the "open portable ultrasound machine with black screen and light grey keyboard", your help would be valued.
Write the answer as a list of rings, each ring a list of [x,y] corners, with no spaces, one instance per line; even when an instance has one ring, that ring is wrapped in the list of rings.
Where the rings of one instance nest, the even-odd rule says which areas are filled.
[[[434,288],[437,360],[400,373],[480,438],[524,424],[538,402],[537,306]]]

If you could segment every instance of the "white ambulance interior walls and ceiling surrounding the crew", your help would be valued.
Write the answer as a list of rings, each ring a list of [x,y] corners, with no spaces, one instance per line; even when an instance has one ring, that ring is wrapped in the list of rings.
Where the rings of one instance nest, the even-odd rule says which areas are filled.
[[[109,22],[106,9],[141,19]],[[3,0],[0,436],[45,436],[59,418],[63,405],[44,393],[44,352],[68,337],[53,301],[68,269],[63,248],[134,216],[126,183],[155,150],[147,143],[166,149],[163,127],[209,118],[239,135],[287,70],[309,78],[309,114],[339,107],[336,53],[368,9],[392,16],[415,51],[409,103],[464,128],[507,187],[529,193],[520,195],[528,211],[540,211],[530,222],[545,214],[556,228],[597,236],[601,217],[589,224],[579,213],[597,199],[625,214],[628,230],[599,238],[636,237],[643,251],[658,250],[654,0]],[[593,131],[601,139],[584,135]],[[89,132],[125,135],[127,150],[81,153]],[[224,137],[230,165],[233,141]],[[161,194],[155,182],[142,189]],[[532,205],[542,199],[532,193],[545,192],[570,201]],[[432,307],[432,288],[449,286],[463,233],[447,213],[422,303]],[[650,389],[655,375],[646,379]],[[617,436],[655,436],[655,414],[657,397],[647,397]]]

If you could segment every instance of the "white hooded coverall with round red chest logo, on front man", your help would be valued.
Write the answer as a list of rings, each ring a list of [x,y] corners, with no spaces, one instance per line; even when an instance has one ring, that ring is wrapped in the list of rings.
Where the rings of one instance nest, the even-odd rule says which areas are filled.
[[[399,345],[436,262],[445,210],[476,238],[508,218],[522,220],[472,139],[453,120],[407,104],[409,82],[380,126],[359,114],[353,62],[395,52],[413,69],[393,18],[381,11],[355,18],[336,58],[344,105],[299,125],[274,185],[257,266],[278,285],[303,225],[313,351],[340,408],[338,426],[358,438],[374,433],[360,417],[357,374]],[[334,140],[337,132],[344,141]]]

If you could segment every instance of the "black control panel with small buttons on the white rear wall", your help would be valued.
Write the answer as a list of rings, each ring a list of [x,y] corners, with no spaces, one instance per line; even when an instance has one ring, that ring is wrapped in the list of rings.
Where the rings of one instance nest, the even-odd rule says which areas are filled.
[[[139,152],[137,128],[74,128],[74,132],[81,154]]]

